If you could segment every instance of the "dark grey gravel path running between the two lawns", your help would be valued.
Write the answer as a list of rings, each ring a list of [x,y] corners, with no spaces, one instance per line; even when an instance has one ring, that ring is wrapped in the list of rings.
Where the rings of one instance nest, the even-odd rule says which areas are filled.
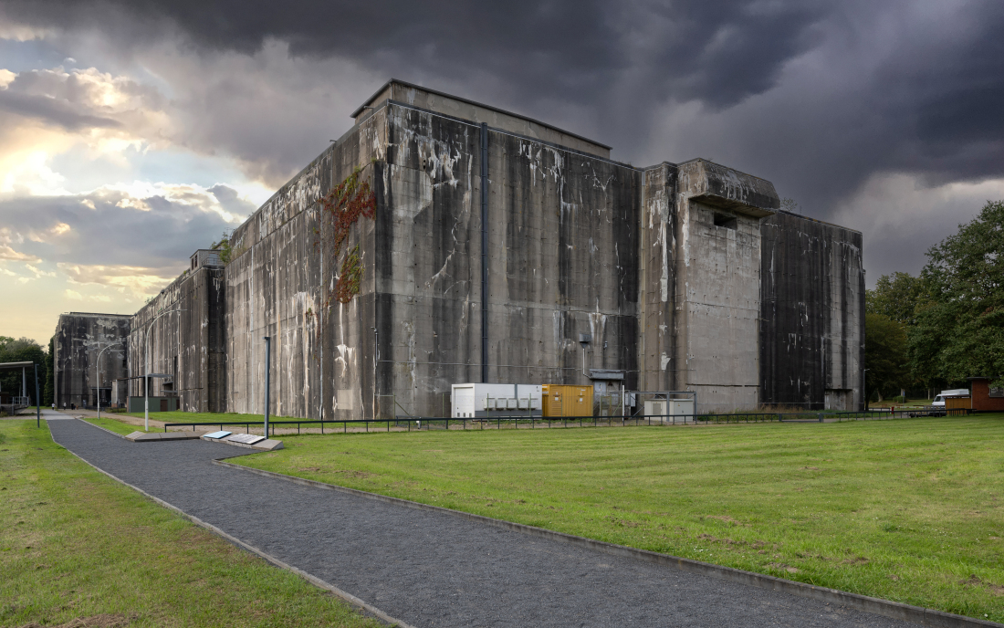
[[[91,464],[420,628],[873,626],[907,622],[211,463],[205,441],[132,443],[49,423]]]

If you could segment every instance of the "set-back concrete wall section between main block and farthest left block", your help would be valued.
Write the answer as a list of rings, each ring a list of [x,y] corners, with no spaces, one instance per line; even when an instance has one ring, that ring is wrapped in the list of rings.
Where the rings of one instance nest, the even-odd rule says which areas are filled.
[[[151,396],[177,395],[185,412],[227,410],[226,293],[222,268],[186,270],[133,318],[130,376],[171,376],[155,378]],[[130,395],[143,394],[143,380],[132,380]]]

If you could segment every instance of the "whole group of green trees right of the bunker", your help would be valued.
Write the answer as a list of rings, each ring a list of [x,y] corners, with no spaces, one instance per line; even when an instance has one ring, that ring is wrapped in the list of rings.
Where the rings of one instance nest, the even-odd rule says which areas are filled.
[[[906,390],[1004,386],[1004,201],[927,251],[918,276],[883,275],[864,299],[864,386]]]

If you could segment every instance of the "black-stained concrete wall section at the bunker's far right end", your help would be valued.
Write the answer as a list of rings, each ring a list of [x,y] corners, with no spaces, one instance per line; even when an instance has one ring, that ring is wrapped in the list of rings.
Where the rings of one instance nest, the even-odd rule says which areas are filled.
[[[763,221],[762,402],[856,410],[862,403],[861,234],[789,212]]]

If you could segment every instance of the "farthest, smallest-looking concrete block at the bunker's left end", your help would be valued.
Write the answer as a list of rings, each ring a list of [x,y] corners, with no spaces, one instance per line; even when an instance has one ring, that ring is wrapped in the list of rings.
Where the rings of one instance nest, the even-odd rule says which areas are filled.
[[[97,403],[94,390],[98,387],[98,377],[99,387],[107,389],[111,388],[112,381],[126,377],[131,319],[76,311],[59,316],[52,346],[54,401],[58,407],[63,403],[93,406]],[[98,353],[105,347],[110,348],[100,355],[98,365]]]

